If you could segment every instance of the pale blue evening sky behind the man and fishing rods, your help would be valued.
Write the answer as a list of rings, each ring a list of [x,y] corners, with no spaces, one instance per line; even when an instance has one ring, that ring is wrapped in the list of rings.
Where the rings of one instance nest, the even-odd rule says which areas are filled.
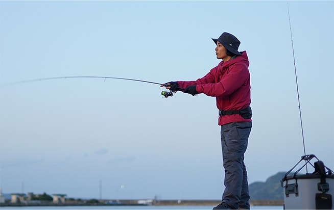
[[[9,84],[192,81],[220,62],[223,32],[250,61],[249,183],[304,155],[295,66],[305,153],[334,170],[333,1],[0,1],[3,193],[221,199],[215,98],[103,78]]]

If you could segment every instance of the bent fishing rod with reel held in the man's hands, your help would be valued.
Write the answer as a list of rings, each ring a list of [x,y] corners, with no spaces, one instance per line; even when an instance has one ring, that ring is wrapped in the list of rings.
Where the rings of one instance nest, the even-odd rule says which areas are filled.
[[[136,81],[136,82],[142,82],[142,83],[151,83],[151,84],[156,84],[156,85],[162,85],[162,86],[169,86],[166,83],[162,84],[162,83],[155,83],[155,82],[150,82],[150,81],[145,81],[145,80],[135,80],[132,78],[123,78],[123,77],[111,77],[111,76],[56,76],[56,77],[45,77],[45,78],[37,78],[37,79],[33,79],[33,80],[23,80],[23,81],[17,81],[17,82],[13,82],[13,83],[9,83],[7,85],[4,86],[10,86],[10,85],[18,85],[18,84],[23,84],[23,83],[31,83],[31,82],[39,82],[39,81],[45,81],[45,80],[60,80],[60,79],[64,79],[66,80],[67,78],[104,78],[104,81],[106,81],[106,79],[115,79],[115,80],[129,80],[129,81]],[[164,96],[165,98],[168,98],[170,96],[173,96],[174,93],[173,91],[162,91],[161,95]]]

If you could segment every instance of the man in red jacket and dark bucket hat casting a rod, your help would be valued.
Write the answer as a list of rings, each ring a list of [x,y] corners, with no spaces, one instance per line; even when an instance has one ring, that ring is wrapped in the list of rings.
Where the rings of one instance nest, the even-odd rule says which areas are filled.
[[[191,95],[204,93],[216,97],[221,126],[225,190],[222,202],[213,209],[250,209],[244,153],[252,128],[250,73],[246,51],[239,52],[240,41],[227,32],[218,39],[217,59],[222,59],[196,81],[177,81],[161,85],[171,91]]]

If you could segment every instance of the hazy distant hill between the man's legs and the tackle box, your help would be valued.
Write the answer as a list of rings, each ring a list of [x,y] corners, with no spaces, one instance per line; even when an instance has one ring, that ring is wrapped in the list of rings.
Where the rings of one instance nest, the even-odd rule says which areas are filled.
[[[253,200],[261,199],[278,199],[283,200],[283,188],[281,187],[280,180],[284,176],[285,172],[279,172],[273,176],[270,176],[266,182],[253,182],[249,185],[249,195]]]

